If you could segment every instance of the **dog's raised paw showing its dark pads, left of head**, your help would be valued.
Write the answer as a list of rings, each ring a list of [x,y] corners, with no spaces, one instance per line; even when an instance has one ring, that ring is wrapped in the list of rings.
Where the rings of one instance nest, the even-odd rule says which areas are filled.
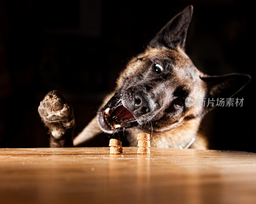
[[[47,127],[58,123],[65,128],[71,128],[75,123],[71,103],[59,91],[46,94],[40,102],[38,113]]]

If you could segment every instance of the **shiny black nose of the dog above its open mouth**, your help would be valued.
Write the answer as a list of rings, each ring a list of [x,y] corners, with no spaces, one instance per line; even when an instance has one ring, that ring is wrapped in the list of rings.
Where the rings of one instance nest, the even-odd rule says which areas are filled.
[[[137,92],[134,94],[134,113],[146,114],[151,112],[155,107],[155,102],[152,98],[148,97],[146,93]]]

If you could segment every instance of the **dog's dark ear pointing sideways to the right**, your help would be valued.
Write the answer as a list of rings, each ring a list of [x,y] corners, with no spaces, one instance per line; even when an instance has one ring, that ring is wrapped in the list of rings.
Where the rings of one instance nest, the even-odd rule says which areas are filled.
[[[230,98],[240,91],[251,80],[247,74],[228,74],[225,76],[204,76],[206,98]]]

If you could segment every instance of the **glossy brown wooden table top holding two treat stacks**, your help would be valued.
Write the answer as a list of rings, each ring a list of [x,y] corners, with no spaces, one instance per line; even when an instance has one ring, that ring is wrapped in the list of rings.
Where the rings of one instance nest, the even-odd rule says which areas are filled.
[[[256,154],[0,149],[0,203],[256,203]]]

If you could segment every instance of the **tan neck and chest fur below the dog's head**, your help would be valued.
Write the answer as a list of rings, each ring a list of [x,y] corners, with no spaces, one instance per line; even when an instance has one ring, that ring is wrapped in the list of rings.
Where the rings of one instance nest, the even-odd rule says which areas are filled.
[[[150,138],[150,146],[158,147],[158,148],[185,148],[191,139],[194,137],[195,144],[200,143],[200,145],[194,147],[198,147],[199,149],[207,149],[207,142],[201,142],[202,137],[197,138],[197,131],[200,125],[201,119],[194,118],[188,121],[185,121],[182,125],[162,131],[156,132],[153,128],[152,130],[140,129],[137,127],[129,128],[126,130],[126,138],[130,142],[130,146],[137,146],[137,134],[141,132],[146,132],[150,134],[152,137]]]

